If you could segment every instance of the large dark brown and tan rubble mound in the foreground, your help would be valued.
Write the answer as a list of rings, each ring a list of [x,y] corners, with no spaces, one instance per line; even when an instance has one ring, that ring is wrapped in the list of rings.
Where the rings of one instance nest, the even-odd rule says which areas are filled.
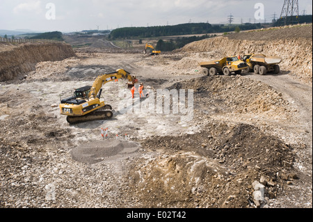
[[[260,179],[266,206],[297,177],[293,149],[250,125],[211,122],[199,134],[141,144],[162,155],[139,159],[128,175],[138,207],[255,207],[252,183]]]

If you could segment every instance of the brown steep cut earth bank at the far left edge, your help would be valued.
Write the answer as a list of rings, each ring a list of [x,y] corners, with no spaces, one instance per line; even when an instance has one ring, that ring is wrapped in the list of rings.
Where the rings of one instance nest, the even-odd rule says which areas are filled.
[[[70,45],[61,43],[31,44],[13,47],[12,50],[0,51],[0,81],[22,78],[27,72],[35,70],[36,63],[42,61],[62,61],[75,56]]]

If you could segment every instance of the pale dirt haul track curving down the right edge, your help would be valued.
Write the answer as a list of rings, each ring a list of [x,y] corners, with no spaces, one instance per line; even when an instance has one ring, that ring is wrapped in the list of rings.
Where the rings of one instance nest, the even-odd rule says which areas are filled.
[[[303,137],[306,148],[296,150],[298,157],[296,157],[295,166],[303,171],[303,175],[300,175],[301,180],[310,184],[310,181],[312,182],[312,86],[302,84],[288,74],[269,74],[266,77],[247,74],[246,77],[272,86],[279,93],[282,93],[284,100],[288,100],[298,110],[298,124],[289,124],[282,127],[290,134],[299,134]],[[298,196],[301,202],[309,203],[310,200],[306,199],[310,196],[308,194],[312,193],[312,186],[311,190],[305,184],[298,184],[298,186],[290,187],[289,195],[293,193],[292,196]],[[289,199],[289,203],[283,201],[281,203],[282,207],[292,207],[292,205],[297,205],[296,202],[296,200]]]

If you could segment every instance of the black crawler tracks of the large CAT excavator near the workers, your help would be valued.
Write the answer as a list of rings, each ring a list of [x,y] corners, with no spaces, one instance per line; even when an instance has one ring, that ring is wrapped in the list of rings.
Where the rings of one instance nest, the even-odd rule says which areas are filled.
[[[77,124],[81,122],[95,121],[95,120],[110,120],[113,118],[113,112],[111,110],[99,110],[93,113],[88,113],[85,116],[67,116],[68,123]]]

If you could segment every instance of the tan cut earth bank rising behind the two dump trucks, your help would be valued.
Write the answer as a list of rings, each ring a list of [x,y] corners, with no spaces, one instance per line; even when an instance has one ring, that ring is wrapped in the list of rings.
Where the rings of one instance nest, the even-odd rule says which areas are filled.
[[[298,30],[296,28],[290,28],[290,31],[294,29]],[[262,31],[240,33],[240,35],[230,35],[228,38],[217,37],[192,42],[183,47],[181,52],[211,52],[211,54],[214,54],[214,59],[250,53],[280,56],[282,57],[282,63],[280,63],[282,72],[291,72],[289,74],[295,75],[299,79],[312,84],[312,25],[303,26],[302,29],[307,30],[306,33],[311,31],[311,35],[305,34],[307,38],[287,38],[289,35],[286,35],[286,38],[284,38],[284,34],[280,33],[281,29],[264,31],[264,33]],[[289,31],[289,29],[286,28],[285,31]],[[263,38],[256,36],[267,36],[267,32],[273,32],[271,34],[274,36],[276,36],[275,33],[278,33],[278,36],[281,36],[281,38],[262,40]],[[266,37],[264,38],[266,39]],[[209,59],[211,60],[211,58]],[[208,61],[208,59],[199,60],[199,62],[202,61]]]

